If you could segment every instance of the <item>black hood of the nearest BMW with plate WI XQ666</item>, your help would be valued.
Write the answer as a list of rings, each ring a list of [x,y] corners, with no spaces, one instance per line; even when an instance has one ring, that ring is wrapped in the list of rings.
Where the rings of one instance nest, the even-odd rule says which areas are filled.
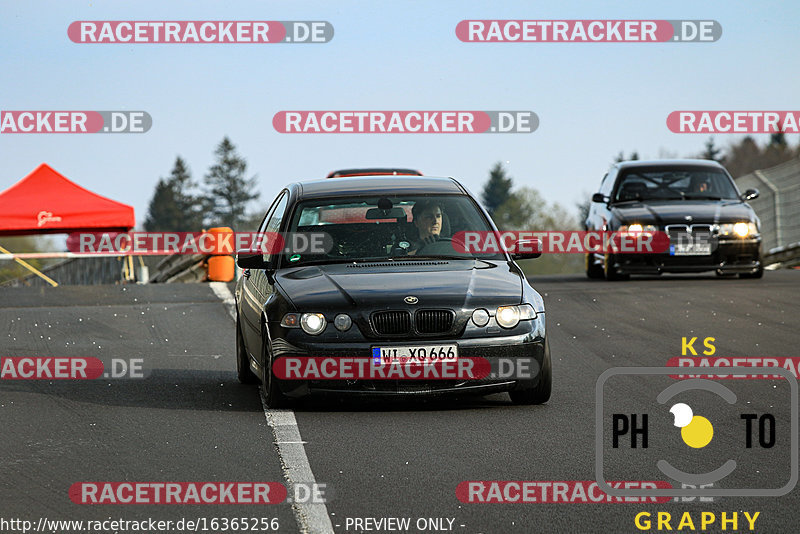
[[[522,279],[509,264],[449,260],[350,263],[281,269],[276,280],[297,311],[478,308],[518,304]]]

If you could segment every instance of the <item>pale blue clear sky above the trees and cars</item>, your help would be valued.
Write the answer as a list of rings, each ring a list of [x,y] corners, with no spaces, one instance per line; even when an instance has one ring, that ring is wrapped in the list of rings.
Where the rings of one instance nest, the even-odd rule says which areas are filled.
[[[263,211],[334,169],[411,167],[479,194],[502,161],[517,187],[573,209],[624,151],[687,157],[675,110],[800,108],[800,3],[0,1],[0,110],[144,110],[143,134],[0,134],[0,190],[46,162],[134,206],[182,156],[202,181],[229,136]],[[714,43],[465,43],[464,19],[713,19]],[[78,44],[76,20],[320,20],[324,44]],[[281,134],[286,110],[531,110],[529,134]],[[717,135],[725,147],[739,135]],[[761,142],[765,135],[756,136]],[[793,145],[798,136],[788,136]]]

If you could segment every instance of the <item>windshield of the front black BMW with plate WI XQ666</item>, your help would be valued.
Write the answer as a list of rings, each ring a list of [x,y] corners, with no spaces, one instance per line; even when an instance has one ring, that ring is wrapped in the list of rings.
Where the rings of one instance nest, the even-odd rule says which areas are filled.
[[[502,253],[466,252],[452,238],[491,227],[465,195],[345,197],[300,202],[289,233],[325,236],[326,251],[284,256],[283,266],[351,261],[495,259]]]

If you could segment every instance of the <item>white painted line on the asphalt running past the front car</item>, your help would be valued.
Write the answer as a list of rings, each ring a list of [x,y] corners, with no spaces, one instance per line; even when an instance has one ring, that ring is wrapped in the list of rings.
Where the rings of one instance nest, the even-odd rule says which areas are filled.
[[[236,320],[236,300],[224,282],[210,282],[211,291],[222,300],[228,313]],[[261,405],[264,407],[264,416],[267,424],[272,428],[273,444],[278,450],[278,459],[283,469],[283,477],[287,482],[287,498],[294,495],[295,484],[307,484],[311,488],[317,483],[308,456],[297,427],[297,419],[292,410],[272,410],[267,406],[263,388],[261,392]],[[333,524],[328,515],[325,503],[292,503],[297,526],[302,534],[333,534]]]

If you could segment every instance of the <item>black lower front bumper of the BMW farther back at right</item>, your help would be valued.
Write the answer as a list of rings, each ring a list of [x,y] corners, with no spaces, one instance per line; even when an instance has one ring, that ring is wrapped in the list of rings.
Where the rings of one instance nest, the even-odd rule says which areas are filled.
[[[620,274],[753,273],[762,268],[761,238],[713,238],[709,255],[615,254],[611,261]]]

